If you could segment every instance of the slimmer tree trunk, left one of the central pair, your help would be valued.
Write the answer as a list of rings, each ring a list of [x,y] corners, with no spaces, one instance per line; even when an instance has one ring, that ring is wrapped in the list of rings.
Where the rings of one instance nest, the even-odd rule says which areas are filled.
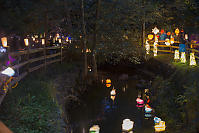
[[[84,0],[82,0],[82,31],[83,31],[83,55],[84,55],[84,72],[83,77],[86,78],[88,75],[88,63],[86,54],[86,26],[84,20]]]

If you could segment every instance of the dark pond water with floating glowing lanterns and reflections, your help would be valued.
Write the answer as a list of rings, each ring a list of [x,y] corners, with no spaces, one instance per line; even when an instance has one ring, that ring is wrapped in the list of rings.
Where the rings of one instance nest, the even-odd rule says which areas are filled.
[[[121,80],[121,74],[102,74],[101,84],[92,85],[80,99],[83,101],[79,107],[71,112],[71,121],[74,123],[75,133],[88,132],[92,125],[100,126],[100,133],[122,133],[124,119],[134,121],[134,133],[154,132],[153,119],[145,119],[144,110],[136,107],[138,92],[144,93],[140,80],[149,83],[143,76],[128,75],[128,79]],[[112,86],[107,88],[105,80],[110,78]],[[146,86],[146,85],[145,85]],[[116,89],[116,97],[110,98],[110,91]]]

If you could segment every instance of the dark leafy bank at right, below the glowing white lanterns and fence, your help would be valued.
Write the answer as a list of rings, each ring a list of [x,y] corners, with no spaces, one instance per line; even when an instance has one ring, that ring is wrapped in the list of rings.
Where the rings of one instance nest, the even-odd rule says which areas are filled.
[[[180,64],[176,66],[175,73],[169,79],[157,78],[154,81],[156,113],[166,121],[168,129],[195,133],[199,129],[199,69]]]

